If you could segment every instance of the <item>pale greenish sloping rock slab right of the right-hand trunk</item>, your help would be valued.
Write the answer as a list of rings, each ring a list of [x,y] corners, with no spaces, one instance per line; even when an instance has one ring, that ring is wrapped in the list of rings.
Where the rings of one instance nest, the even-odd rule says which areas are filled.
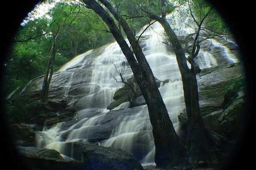
[[[233,81],[244,78],[241,63],[202,69],[197,75],[199,104],[203,116],[222,109],[224,95]]]

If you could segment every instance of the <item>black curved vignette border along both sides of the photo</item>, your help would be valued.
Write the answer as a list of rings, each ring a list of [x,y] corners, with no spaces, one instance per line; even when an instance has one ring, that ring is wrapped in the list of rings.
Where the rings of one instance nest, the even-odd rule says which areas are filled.
[[[234,0],[208,0],[221,13],[222,17],[229,25],[236,42],[241,48],[242,59],[244,63],[245,75],[247,80],[247,108],[244,110],[244,124],[241,126],[241,131],[238,132],[239,139],[233,155],[227,158],[226,164],[222,169],[250,169],[253,166],[253,43],[255,39],[253,6],[251,1],[234,1]],[[33,9],[33,6],[40,0],[17,0],[3,1],[1,3],[1,51],[0,51],[0,71],[1,71],[1,115],[0,115],[0,160],[3,163],[2,168],[11,169],[26,169],[21,158],[18,156],[14,143],[11,140],[11,132],[5,124],[5,107],[3,105],[3,97],[6,96],[4,89],[3,75],[5,74],[3,62],[9,56],[12,39],[17,32],[19,24],[23,18]],[[251,154],[252,153],[252,154]]]

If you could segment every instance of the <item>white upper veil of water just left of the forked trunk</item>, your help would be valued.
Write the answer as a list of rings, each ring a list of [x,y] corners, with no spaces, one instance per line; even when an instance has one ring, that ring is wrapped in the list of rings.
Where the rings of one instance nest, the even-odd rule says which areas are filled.
[[[104,112],[108,111],[106,108],[113,101],[114,93],[123,86],[122,83],[116,83],[110,75],[110,72],[112,72],[115,77],[118,77],[110,59],[122,62],[118,60],[122,56],[119,45],[114,42],[108,45],[105,51],[94,59],[90,92],[84,97],[85,101],[90,102],[84,103],[84,109],[98,108],[104,109]]]

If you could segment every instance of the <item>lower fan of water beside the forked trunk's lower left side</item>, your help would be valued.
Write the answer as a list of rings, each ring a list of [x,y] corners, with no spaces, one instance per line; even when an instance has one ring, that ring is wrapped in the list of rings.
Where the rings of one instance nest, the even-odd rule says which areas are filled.
[[[103,141],[103,146],[114,146],[122,148],[130,153],[136,154],[137,140],[144,141],[141,143],[141,149],[144,154],[148,154],[151,146],[149,142],[152,138],[151,125],[148,122],[148,108],[146,105],[139,106],[137,113],[125,113],[120,117],[120,123],[112,132],[110,139]]]

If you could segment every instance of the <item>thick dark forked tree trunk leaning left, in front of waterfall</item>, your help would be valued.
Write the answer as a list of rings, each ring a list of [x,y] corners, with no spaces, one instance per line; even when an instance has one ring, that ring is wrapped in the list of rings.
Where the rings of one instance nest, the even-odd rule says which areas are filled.
[[[105,3],[106,1],[101,2]],[[129,31],[130,27],[127,27],[128,24],[123,22],[122,18],[117,20],[120,21],[120,24],[133,47],[137,61],[134,58],[133,53],[131,52],[131,49],[129,48],[125,39],[120,34],[114,20],[102,8],[102,6],[94,0],[84,0],[84,3],[87,4],[87,8],[93,9],[93,11],[95,11],[108,25],[111,33],[113,34],[131,66],[134,77],[136,78],[136,81],[148,105],[149,118],[152,125],[155,143],[155,163],[158,166],[162,166],[167,164],[177,165],[183,162],[186,156],[185,149],[174,130],[162,96],[157,88],[157,84],[155,83],[155,78],[151,68],[146,61],[139,44],[134,43],[136,40],[134,40],[133,33]],[[106,7],[111,9],[108,5],[106,5]],[[113,12],[112,9],[110,11]]]

